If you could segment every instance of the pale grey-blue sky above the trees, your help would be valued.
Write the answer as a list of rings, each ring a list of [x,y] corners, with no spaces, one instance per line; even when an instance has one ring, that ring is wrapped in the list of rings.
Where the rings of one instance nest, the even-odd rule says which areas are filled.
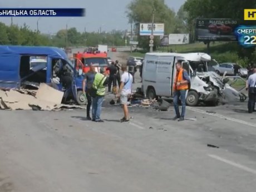
[[[129,29],[125,11],[132,0],[4,0],[2,8],[86,8],[85,17],[13,17],[13,24],[26,23],[29,28],[38,28],[42,33],[53,34],[60,29],[76,27],[77,31],[92,32]],[[186,0],[165,0],[177,12]],[[38,20],[39,19],[39,20]],[[11,24],[11,17],[0,17],[0,22]]]

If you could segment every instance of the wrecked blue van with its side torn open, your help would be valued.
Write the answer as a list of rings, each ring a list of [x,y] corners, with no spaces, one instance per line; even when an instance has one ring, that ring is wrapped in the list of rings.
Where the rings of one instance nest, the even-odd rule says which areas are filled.
[[[35,59],[40,62],[32,62]],[[64,92],[63,102],[70,99],[85,105],[82,95],[82,70],[57,47],[0,46],[0,87],[36,89],[40,83]]]

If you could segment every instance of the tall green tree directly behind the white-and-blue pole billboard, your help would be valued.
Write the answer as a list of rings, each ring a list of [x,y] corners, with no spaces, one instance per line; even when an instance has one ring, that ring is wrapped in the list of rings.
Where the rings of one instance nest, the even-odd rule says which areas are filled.
[[[175,12],[171,10],[164,0],[134,0],[127,6],[127,17],[134,23],[151,23],[154,11],[154,22],[165,24],[165,33],[175,31]],[[139,34],[137,34],[139,35]],[[149,48],[149,37],[138,37],[139,46]],[[155,38],[154,45],[159,45],[159,38]]]

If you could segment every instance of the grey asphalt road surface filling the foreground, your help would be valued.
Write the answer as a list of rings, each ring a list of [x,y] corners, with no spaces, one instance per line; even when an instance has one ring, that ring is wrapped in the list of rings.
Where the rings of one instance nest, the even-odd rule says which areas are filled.
[[[120,123],[105,99],[104,123],[84,110],[0,110],[0,191],[255,191],[256,114],[245,102],[187,107],[183,122],[173,106],[133,106]]]

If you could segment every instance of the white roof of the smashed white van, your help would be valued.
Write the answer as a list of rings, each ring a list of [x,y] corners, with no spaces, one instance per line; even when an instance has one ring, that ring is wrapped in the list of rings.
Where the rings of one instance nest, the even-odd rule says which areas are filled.
[[[188,61],[210,61],[211,56],[206,53],[146,53],[151,56],[174,56],[183,57]]]

